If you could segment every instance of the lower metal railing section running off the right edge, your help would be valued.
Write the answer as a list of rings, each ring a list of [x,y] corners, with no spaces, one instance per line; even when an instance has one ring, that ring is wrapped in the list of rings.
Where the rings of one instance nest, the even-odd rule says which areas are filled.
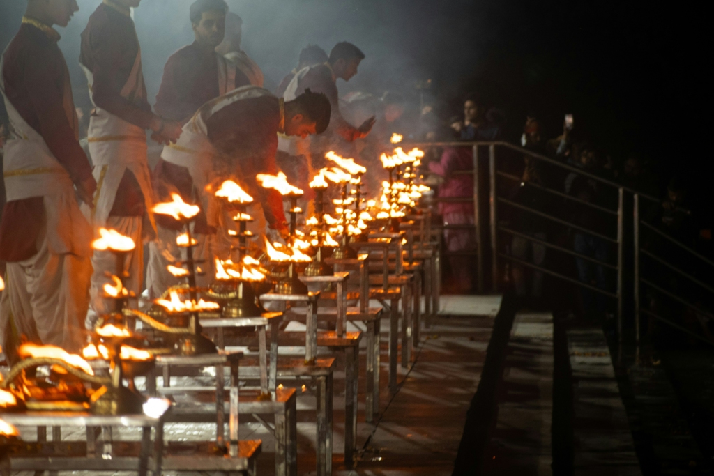
[[[698,333],[694,333],[692,330],[689,330],[688,328],[683,327],[682,325],[673,322],[672,320],[666,318],[663,315],[658,315],[657,313],[653,312],[652,310],[648,309],[643,309],[642,308],[642,300],[641,300],[641,291],[642,291],[642,285],[645,285],[647,288],[650,290],[655,291],[656,293],[660,295],[664,295],[670,300],[673,300],[680,305],[683,305],[685,308],[689,308],[691,310],[694,310],[695,313],[698,313],[699,315],[702,315],[703,317],[712,320],[714,319],[714,314],[710,313],[707,310],[702,309],[700,306],[696,305],[695,303],[690,303],[688,300],[683,298],[681,295],[677,295],[676,293],[673,293],[671,290],[665,289],[662,285],[658,285],[654,283],[654,278],[643,278],[642,275],[642,270],[641,270],[641,265],[642,265],[642,258],[643,256],[646,256],[648,260],[652,261],[653,263],[657,263],[660,266],[663,266],[664,268],[667,268],[670,270],[670,272],[675,273],[675,275],[682,276],[686,278],[690,283],[694,283],[695,285],[698,286],[700,290],[704,290],[706,293],[709,293],[709,295],[714,295],[714,288],[712,285],[708,283],[704,283],[702,280],[695,278],[695,276],[691,275],[690,273],[687,273],[686,271],[682,270],[679,268],[677,265],[674,265],[673,263],[670,263],[669,260],[667,260],[663,256],[657,255],[655,252],[652,250],[648,250],[646,248],[642,248],[641,246],[641,232],[643,230],[647,230],[649,233],[653,233],[653,236],[657,236],[658,238],[664,239],[666,242],[670,243],[671,245],[675,245],[676,248],[683,250],[686,255],[689,255],[692,258],[696,258],[696,263],[703,264],[707,266],[708,273],[712,273],[714,271],[714,262],[710,260],[710,258],[707,258],[706,256],[702,255],[701,253],[698,253],[697,251],[693,250],[692,248],[688,247],[687,245],[684,245],[683,243],[680,243],[680,241],[676,240],[672,236],[669,236],[667,233],[659,230],[655,226],[651,225],[650,223],[647,223],[644,221],[642,218],[640,218],[640,197],[643,197],[647,200],[653,201],[654,199],[649,197],[649,196],[644,196],[641,193],[635,193],[633,195],[633,243],[634,243],[634,248],[635,248],[635,265],[634,265],[634,298],[635,298],[635,344],[637,345],[637,350],[639,353],[640,349],[640,333],[641,333],[641,318],[642,315],[648,315],[651,318],[654,318],[656,320],[659,320],[662,323],[665,323],[667,325],[670,325],[670,327],[676,328],[680,331],[682,331],[685,334],[690,335],[693,338],[696,338],[698,340],[703,341],[704,343],[707,343],[709,345],[714,345],[714,342],[710,340],[709,338],[705,338],[702,335]],[[655,200],[657,201],[657,200]],[[659,202],[659,201],[657,201]]]

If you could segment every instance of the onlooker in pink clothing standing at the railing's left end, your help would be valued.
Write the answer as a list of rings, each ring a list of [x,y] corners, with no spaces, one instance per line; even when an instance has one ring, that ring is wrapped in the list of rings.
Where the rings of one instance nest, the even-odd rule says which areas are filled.
[[[440,198],[470,198],[473,197],[473,176],[468,174],[454,175],[456,171],[473,168],[471,148],[446,148],[440,161],[428,163],[429,170],[443,177],[439,187]],[[439,203],[439,211],[443,216],[444,226],[473,226],[473,201],[443,201]],[[476,247],[476,233],[472,228],[444,228],[446,249],[451,252],[473,250]],[[457,292],[471,291],[473,281],[473,260],[466,255],[449,255]]]

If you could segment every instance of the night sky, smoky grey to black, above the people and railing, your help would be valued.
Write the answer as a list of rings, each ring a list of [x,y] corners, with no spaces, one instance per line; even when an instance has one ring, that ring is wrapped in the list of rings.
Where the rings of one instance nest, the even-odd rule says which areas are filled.
[[[153,98],[166,58],[191,41],[191,0],[144,0],[135,19],[144,71]],[[11,39],[23,0],[0,0],[0,48]],[[62,32],[62,49],[76,91],[84,83],[76,58],[79,32],[98,0]],[[508,115],[511,141],[523,116],[536,111],[553,135],[563,113],[575,115],[615,158],[640,151],[668,170],[692,175],[709,121],[702,12],[657,9],[615,1],[228,0],[244,20],[243,48],[276,84],[308,42],[329,51],[341,40],[367,59],[341,92],[385,89],[416,96],[415,81],[433,79],[436,106],[446,120],[461,98],[478,91]],[[691,7],[688,7],[691,8]],[[703,141],[701,141],[703,142]]]

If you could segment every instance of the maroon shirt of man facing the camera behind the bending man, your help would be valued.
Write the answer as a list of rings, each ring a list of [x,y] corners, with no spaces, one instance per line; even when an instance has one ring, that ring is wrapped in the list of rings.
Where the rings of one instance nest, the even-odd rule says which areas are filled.
[[[198,108],[219,96],[216,51],[196,41],[169,56],[154,109],[159,116],[186,123]],[[248,86],[248,76],[236,69],[236,88]]]

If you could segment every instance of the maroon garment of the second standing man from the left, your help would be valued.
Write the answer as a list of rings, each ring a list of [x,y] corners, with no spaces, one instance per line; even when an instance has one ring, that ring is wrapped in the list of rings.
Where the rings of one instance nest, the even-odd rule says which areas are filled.
[[[121,89],[134,69],[139,39],[134,21],[127,14],[99,4],[81,34],[79,62],[92,72],[92,101],[97,107],[124,121],[149,128],[154,113],[146,96],[124,98]],[[142,84],[141,89],[146,91]],[[109,216],[143,216],[144,195],[134,174],[121,178]]]

